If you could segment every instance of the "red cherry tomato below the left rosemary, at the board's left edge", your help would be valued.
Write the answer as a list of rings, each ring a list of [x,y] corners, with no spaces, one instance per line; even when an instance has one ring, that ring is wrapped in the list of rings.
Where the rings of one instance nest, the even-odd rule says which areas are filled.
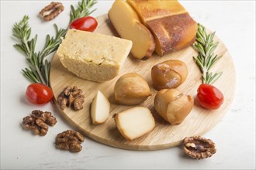
[[[32,104],[47,104],[53,96],[50,87],[42,83],[31,83],[26,87],[26,99]]]

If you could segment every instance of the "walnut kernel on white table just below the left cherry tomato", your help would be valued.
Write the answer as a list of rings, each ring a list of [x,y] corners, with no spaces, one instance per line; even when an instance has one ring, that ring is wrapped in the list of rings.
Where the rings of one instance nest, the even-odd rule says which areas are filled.
[[[22,121],[26,130],[31,130],[34,134],[39,134],[40,136],[47,134],[48,125],[54,126],[56,123],[56,118],[50,112],[41,110],[33,110],[31,116],[24,117]]]

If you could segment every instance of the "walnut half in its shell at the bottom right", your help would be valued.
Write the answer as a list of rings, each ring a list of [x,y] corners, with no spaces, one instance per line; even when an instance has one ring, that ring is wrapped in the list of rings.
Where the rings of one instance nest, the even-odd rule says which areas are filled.
[[[200,136],[187,137],[183,140],[183,149],[191,158],[209,158],[216,153],[215,143]]]

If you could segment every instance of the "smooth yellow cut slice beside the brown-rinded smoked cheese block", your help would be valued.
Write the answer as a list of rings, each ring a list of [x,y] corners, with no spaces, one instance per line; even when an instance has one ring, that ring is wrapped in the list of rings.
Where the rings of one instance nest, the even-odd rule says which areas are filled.
[[[144,26],[137,13],[126,2],[117,0],[109,10],[109,19],[123,39],[133,42],[131,53],[137,59],[147,59],[155,49],[154,36]]]

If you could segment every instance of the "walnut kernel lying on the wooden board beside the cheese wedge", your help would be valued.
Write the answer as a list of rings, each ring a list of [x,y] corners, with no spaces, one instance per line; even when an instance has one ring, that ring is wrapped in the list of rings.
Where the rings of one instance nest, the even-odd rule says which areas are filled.
[[[67,106],[74,110],[81,110],[85,102],[85,96],[82,93],[83,91],[78,87],[66,87],[57,97],[57,104],[61,110],[64,110]]]

